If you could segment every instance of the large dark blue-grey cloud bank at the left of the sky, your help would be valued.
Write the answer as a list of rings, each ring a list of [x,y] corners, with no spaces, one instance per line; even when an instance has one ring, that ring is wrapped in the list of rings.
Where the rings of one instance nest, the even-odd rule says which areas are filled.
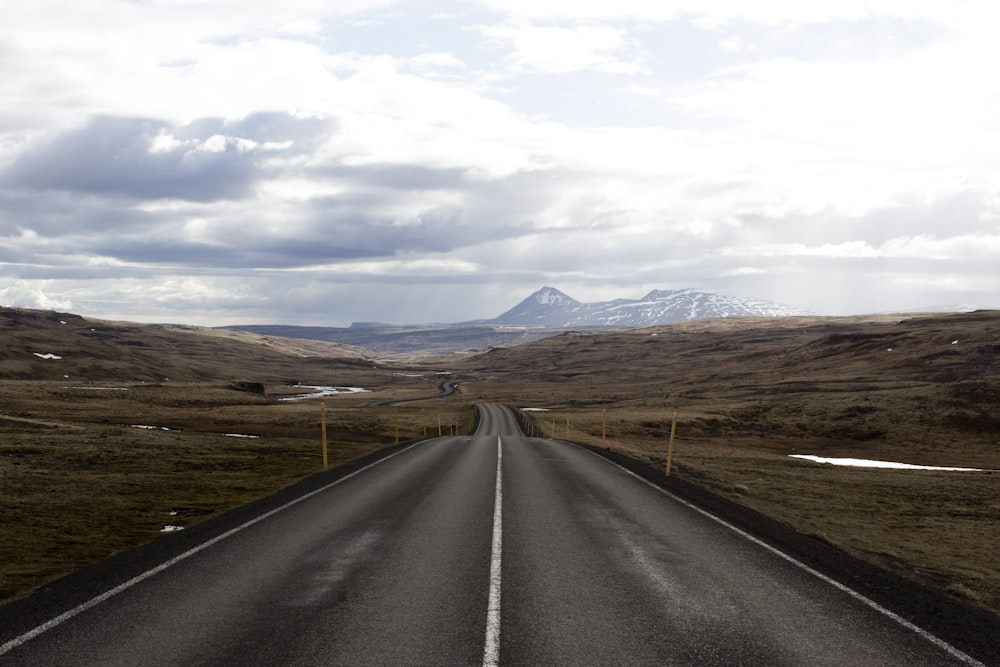
[[[234,122],[202,118],[181,127],[97,119],[35,147],[0,175],[0,257],[52,270],[73,257],[91,257],[222,272],[440,254],[537,233],[534,218],[558,186],[546,174],[478,179],[458,168],[338,165],[293,174],[343,184],[336,196],[248,197],[187,210],[136,207],[137,199],[172,193],[210,200],[246,190],[266,176],[253,162],[255,155],[227,151],[206,153],[206,159],[218,157],[219,162],[204,165],[204,178],[197,178],[195,171],[184,171],[190,144],[150,152],[161,132],[180,142],[224,135],[258,144],[292,142],[288,151],[309,151],[310,142],[333,129],[327,121],[277,113]],[[87,156],[100,169],[88,173],[77,164]],[[56,168],[48,171],[48,165]],[[233,182],[222,183],[229,176]],[[7,189],[2,189],[4,180]],[[436,192],[445,193],[449,203],[442,205],[440,197],[429,194]],[[192,216],[198,225],[189,228]],[[25,231],[31,234],[22,236]],[[107,272],[114,273],[110,267]]]

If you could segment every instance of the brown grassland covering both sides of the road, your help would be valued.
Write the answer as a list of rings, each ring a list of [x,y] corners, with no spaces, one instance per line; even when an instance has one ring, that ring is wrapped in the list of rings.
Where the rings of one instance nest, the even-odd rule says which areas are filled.
[[[1000,612],[998,331],[996,312],[711,320],[404,366],[314,341],[0,309],[0,600],[319,471],[320,402],[278,400],[296,380],[370,390],[324,401],[334,465],[397,433],[437,435],[439,420],[465,432],[475,403],[498,402],[545,409],[530,413],[537,432],[663,467],[676,415],[672,474]],[[483,380],[370,406],[433,394],[449,368]]]

